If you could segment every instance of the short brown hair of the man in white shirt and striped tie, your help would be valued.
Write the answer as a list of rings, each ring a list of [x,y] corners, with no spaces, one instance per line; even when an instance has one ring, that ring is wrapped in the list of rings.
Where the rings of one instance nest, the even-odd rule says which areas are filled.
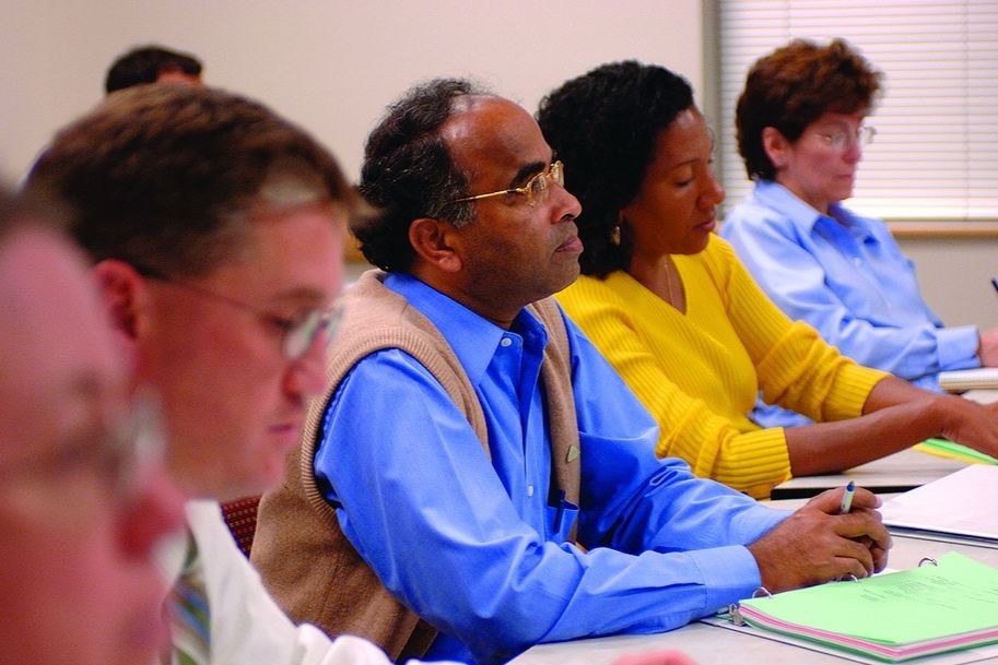
[[[242,248],[246,213],[275,181],[285,199],[307,190],[310,201],[356,210],[332,155],[261,104],[209,87],[144,85],[59,132],[27,189],[66,204],[70,233],[95,261],[201,276]]]

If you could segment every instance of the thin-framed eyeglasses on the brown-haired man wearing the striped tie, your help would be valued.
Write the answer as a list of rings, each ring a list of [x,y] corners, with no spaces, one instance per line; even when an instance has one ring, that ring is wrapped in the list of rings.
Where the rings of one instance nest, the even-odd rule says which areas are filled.
[[[134,263],[132,263],[132,266],[144,277],[167,282],[192,293],[214,298],[220,302],[226,302],[232,307],[237,307],[256,314],[265,323],[274,325],[281,331],[281,355],[287,360],[297,360],[304,356],[308,349],[312,348],[312,345],[315,344],[316,340],[324,334],[326,335],[326,342],[328,344],[340,322],[341,310],[338,307],[307,309],[294,318],[280,317],[263,311],[247,302],[243,302],[242,300],[216,294],[213,290],[209,290],[196,284],[174,280],[158,270]]]

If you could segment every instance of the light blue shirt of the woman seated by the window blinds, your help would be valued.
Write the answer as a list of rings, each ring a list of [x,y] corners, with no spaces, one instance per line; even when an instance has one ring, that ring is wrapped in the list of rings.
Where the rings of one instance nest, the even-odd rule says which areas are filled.
[[[787,316],[860,365],[936,391],[940,371],[977,367],[976,326],[943,328],[887,225],[835,203],[829,212],[762,180],[726,215],[720,235]],[[774,413],[756,411],[756,420],[799,424]]]

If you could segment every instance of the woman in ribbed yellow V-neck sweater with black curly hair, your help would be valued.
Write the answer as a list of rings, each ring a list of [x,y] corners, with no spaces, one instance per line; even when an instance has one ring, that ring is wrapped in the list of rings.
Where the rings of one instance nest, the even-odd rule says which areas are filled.
[[[724,190],[689,84],[634,61],[548,95],[544,136],[582,201],[582,277],[559,294],[656,416],[659,456],[753,497],[934,436],[998,453],[998,412],[840,355],[790,321],[713,231]],[[817,425],[761,429],[759,391]]]

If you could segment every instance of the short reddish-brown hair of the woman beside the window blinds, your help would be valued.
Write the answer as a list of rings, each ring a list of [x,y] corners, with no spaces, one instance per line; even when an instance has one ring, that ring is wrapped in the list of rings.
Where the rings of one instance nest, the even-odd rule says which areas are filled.
[[[794,142],[825,112],[867,111],[882,78],[843,39],[827,46],[794,39],[756,60],[735,110],[738,152],[749,178],[776,177],[763,149],[763,129],[773,127]]]

